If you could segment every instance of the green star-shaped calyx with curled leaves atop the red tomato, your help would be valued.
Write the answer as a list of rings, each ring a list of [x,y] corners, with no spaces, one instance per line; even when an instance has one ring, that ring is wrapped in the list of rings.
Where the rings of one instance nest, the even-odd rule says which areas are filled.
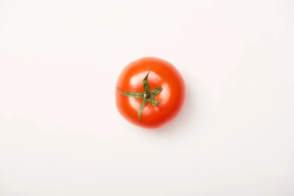
[[[143,98],[143,101],[142,101],[142,103],[139,107],[139,110],[138,110],[139,123],[141,123],[142,111],[148,102],[150,102],[153,107],[157,106],[159,103],[162,103],[162,101],[157,101],[155,99],[155,96],[157,96],[162,91],[162,88],[159,86],[159,87],[153,89],[152,91],[150,90],[147,78],[148,78],[148,75],[151,71],[151,68],[150,67],[147,67],[147,68],[149,68],[149,72],[147,73],[147,75],[143,79],[144,92],[122,92],[122,91],[120,91],[120,88],[118,87],[118,91],[126,97]]]

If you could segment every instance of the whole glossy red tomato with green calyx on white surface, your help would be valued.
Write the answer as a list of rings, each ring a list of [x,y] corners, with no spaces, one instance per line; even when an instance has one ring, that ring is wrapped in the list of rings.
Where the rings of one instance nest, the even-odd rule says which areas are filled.
[[[172,122],[186,98],[182,75],[168,61],[139,58],[124,67],[116,88],[116,106],[129,123],[158,129]]]

